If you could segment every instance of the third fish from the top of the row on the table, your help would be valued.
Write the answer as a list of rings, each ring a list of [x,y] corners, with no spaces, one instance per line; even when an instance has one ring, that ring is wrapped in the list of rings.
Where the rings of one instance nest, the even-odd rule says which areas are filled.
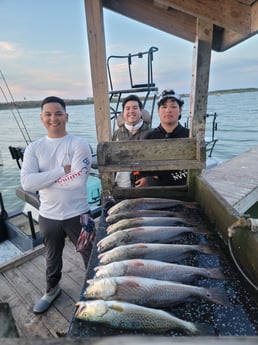
[[[194,226],[194,223],[190,221],[178,218],[178,217],[138,217],[138,218],[128,218],[121,219],[118,222],[111,224],[107,227],[107,234],[112,234],[115,231],[135,228],[139,226],[174,226],[174,225],[185,225]]]

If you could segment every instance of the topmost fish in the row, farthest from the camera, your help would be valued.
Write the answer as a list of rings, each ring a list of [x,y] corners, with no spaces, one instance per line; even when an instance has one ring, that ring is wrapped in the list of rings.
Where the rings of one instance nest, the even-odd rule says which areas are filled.
[[[160,210],[176,206],[186,208],[197,208],[198,203],[195,201],[182,201],[165,198],[135,198],[125,199],[111,206],[107,211],[108,215],[114,213],[128,212],[134,210]]]

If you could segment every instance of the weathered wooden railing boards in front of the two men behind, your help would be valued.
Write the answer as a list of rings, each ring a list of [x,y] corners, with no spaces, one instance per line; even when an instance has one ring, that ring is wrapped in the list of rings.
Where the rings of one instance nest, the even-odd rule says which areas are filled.
[[[205,142],[198,142],[195,138],[108,141],[98,144],[97,157],[104,196],[168,196],[171,191],[187,194],[194,183],[194,176],[205,168],[206,149]],[[188,174],[187,185],[183,187],[118,188],[114,183],[117,171],[181,169],[194,172]]]

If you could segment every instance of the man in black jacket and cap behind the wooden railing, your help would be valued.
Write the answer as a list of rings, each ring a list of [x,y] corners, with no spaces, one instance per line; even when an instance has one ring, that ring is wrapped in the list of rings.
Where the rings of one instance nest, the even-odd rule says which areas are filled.
[[[174,90],[163,91],[158,101],[160,124],[149,132],[144,139],[189,137],[189,129],[179,123],[183,104],[184,101],[181,99],[181,96],[176,94]],[[135,187],[185,185],[186,178],[187,170],[141,172],[135,182]]]

